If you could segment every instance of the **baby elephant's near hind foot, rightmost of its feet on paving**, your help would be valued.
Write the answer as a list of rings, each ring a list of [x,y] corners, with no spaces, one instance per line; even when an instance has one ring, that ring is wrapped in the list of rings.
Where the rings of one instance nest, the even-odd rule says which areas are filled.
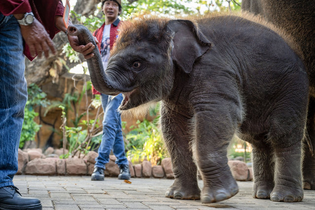
[[[270,200],[276,202],[300,202],[303,199],[303,189],[276,184],[270,194]]]

